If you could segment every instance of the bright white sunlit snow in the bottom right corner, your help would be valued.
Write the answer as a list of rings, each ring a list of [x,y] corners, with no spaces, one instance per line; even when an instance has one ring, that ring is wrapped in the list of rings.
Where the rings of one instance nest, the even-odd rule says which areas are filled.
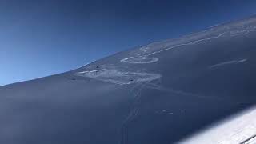
[[[178,144],[255,144],[255,107],[227,118],[217,125],[186,138]]]

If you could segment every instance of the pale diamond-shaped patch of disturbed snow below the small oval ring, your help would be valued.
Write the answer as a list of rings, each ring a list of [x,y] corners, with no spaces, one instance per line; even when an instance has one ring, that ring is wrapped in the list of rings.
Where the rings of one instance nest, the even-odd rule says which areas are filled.
[[[147,74],[114,69],[82,71],[78,72],[76,75],[86,78],[94,78],[99,81],[110,82],[118,85],[126,85],[136,82],[150,82],[161,78],[160,74]]]

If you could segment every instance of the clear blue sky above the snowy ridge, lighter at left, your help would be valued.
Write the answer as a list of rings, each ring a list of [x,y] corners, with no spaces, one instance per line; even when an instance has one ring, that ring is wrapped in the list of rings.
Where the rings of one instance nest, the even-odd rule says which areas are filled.
[[[255,0],[0,0],[0,86],[256,14]]]

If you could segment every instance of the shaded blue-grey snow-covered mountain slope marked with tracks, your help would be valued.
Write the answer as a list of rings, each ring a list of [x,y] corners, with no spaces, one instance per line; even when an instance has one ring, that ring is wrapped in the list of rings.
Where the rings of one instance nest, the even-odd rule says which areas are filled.
[[[251,17],[2,86],[0,143],[178,142],[254,106],[255,46]]]

